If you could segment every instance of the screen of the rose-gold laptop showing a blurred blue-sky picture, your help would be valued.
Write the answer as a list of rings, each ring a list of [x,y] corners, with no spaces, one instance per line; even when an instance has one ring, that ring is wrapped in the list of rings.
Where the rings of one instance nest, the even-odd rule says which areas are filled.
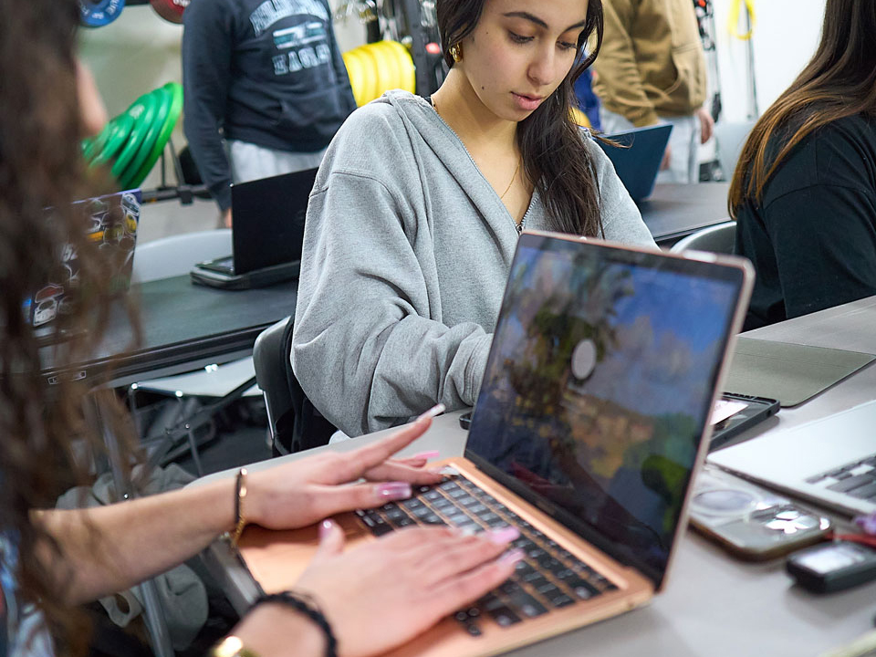
[[[743,279],[523,235],[465,455],[659,587]]]

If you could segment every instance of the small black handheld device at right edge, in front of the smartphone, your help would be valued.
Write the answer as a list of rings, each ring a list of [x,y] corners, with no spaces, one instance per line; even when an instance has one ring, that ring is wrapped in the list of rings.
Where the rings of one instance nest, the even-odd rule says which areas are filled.
[[[876,549],[836,541],[791,555],[786,568],[804,589],[816,593],[849,589],[876,579]]]

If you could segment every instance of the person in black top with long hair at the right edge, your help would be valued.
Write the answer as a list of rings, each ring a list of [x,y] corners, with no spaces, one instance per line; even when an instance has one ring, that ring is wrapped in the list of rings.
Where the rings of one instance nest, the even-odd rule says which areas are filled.
[[[828,0],[817,54],[757,121],[730,188],[756,269],[745,328],[876,295],[876,3]]]

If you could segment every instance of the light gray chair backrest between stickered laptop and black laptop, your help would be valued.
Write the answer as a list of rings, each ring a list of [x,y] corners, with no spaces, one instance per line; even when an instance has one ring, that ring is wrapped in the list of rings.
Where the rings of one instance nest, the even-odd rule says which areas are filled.
[[[182,276],[199,262],[231,255],[231,229],[170,235],[137,245],[130,279],[148,283],[160,278]]]

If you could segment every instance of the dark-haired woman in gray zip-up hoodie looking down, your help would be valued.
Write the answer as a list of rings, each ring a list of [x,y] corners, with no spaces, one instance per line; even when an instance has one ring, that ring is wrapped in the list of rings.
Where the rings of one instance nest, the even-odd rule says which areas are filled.
[[[438,0],[451,70],[390,91],[328,148],[308,206],[291,361],[349,435],[474,405],[525,228],[654,245],[569,114],[600,0]],[[583,46],[596,33],[596,47]]]

